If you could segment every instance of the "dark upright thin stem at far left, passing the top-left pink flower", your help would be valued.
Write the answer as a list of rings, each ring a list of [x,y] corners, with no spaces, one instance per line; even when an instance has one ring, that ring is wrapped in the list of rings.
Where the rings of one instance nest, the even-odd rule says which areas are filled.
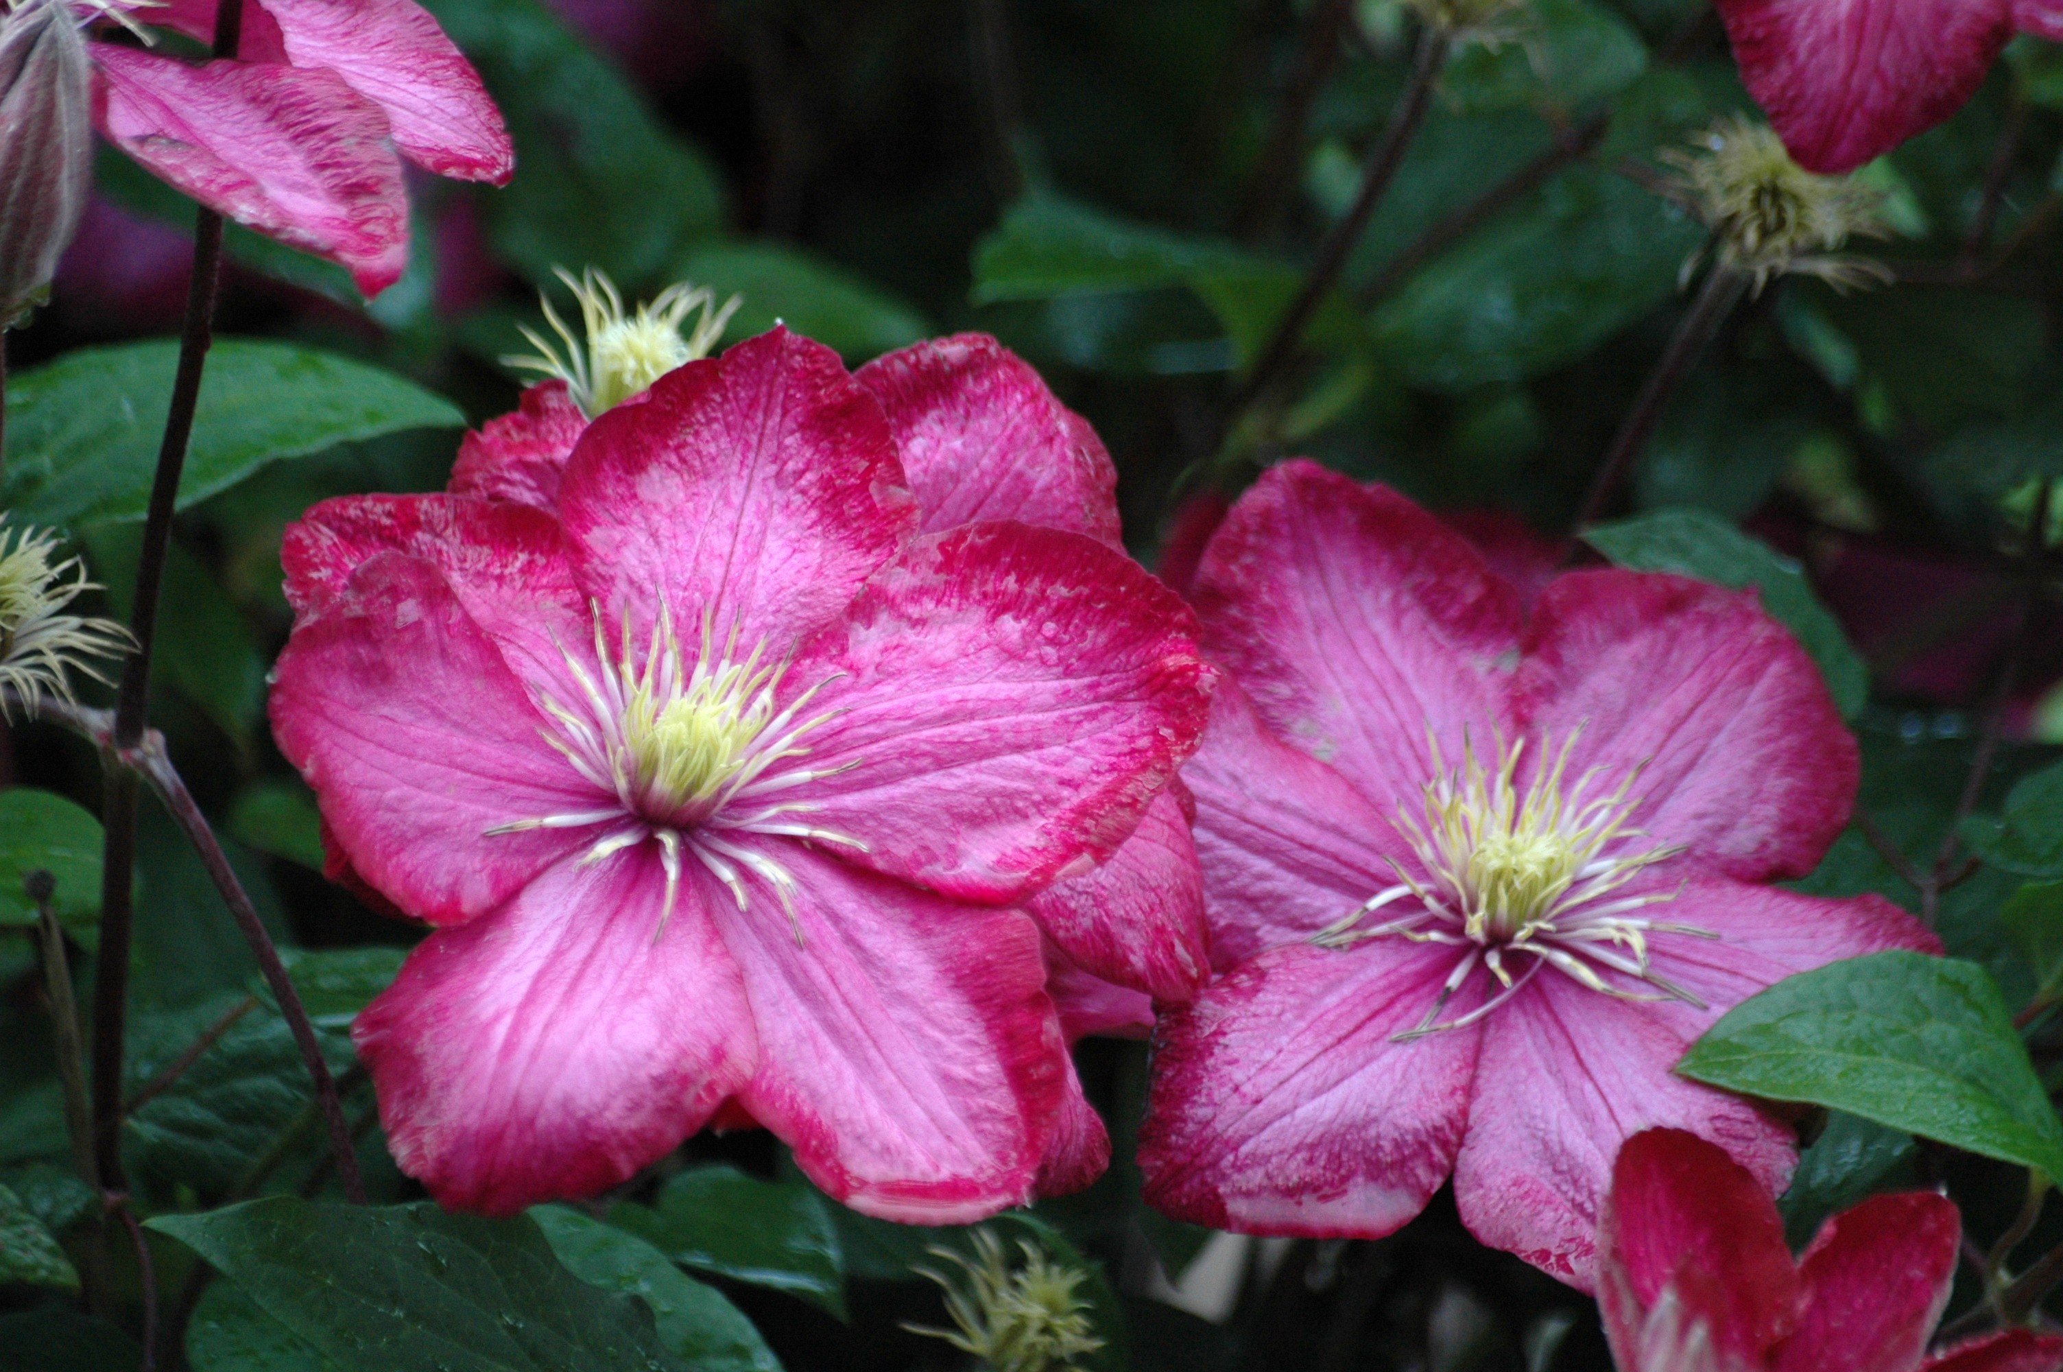
[[[215,6],[215,56],[237,56],[243,31],[243,6]],[[130,633],[136,652],[122,671],[116,697],[111,753],[136,749],[142,743],[144,712],[151,699],[151,648],[157,635],[157,596],[165,576],[165,549],[171,543],[171,516],[179,497],[179,475],[186,470],[186,448],[194,435],[194,411],[200,404],[200,375],[215,340],[215,295],[223,268],[223,217],[210,208],[194,215],[194,268],[186,283],[186,328],[179,334],[179,369],[171,382],[171,402],[165,409],[165,435],[157,450],[157,475],[151,481],[151,510],[142,526],[142,551],[136,561],[136,596],[130,605]],[[103,765],[111,757],[103,749]],[[107,765],[105,801],[101,807],[105,831],[101,848],[101,941],[93,982],[93,1145],[101,1178],[120,1188],[122,1180],[122,1050],[128,1030],[128,961],[130,937],[136,924],[132,891],[136,881],[136,774],[126,765]]]

